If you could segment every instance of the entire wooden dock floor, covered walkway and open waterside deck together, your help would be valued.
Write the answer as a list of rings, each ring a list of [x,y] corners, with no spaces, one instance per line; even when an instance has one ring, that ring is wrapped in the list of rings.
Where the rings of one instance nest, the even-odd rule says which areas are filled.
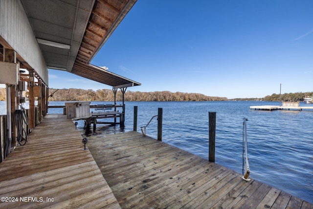
[[[85,151],[81,139],[72,120],[47,115],[0,163],[0,197],[18,197],[0,208],[313,209],[138,132],[90,137]]]

